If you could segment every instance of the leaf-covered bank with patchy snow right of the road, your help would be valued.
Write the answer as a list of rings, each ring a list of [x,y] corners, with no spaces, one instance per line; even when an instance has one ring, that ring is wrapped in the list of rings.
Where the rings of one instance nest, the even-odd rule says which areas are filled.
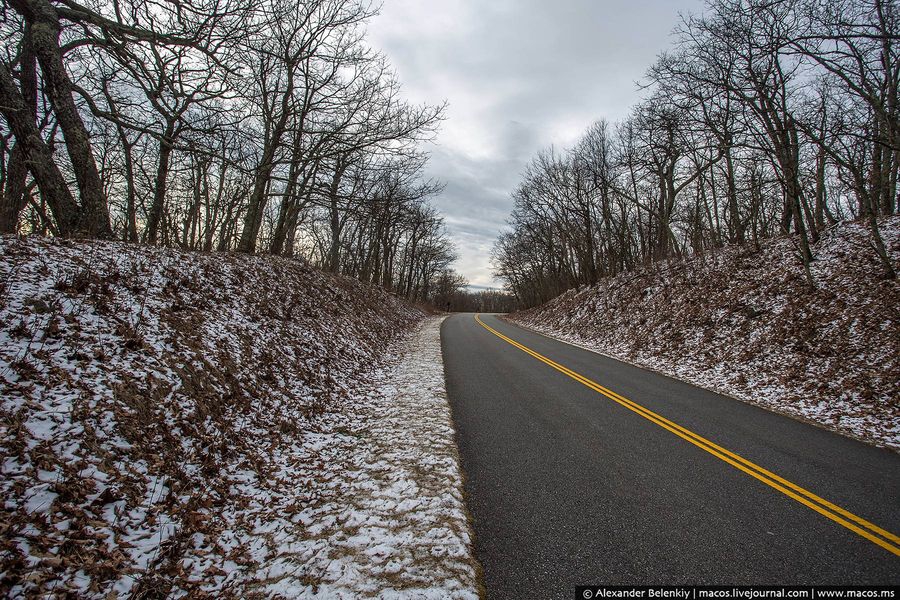
[[[900,217],[882,235],[900,268]],[[772,410],[900,448],[900,282],[864,224],[827,230],[816,288],[789,238],[623,273],[512,320]]]

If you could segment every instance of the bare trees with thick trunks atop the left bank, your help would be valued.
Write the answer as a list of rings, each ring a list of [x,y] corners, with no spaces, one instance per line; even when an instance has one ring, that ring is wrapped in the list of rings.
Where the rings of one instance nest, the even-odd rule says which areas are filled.
[[[0,232],[303,256],[427,299],[454,252],[367,0],[4,0]]]

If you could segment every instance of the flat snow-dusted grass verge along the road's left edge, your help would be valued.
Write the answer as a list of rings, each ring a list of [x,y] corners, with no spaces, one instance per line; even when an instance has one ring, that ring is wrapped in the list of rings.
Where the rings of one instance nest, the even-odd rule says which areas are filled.
[[[279,551],[264,569],[267,593],[478,598],[442,320],[428,319],[405,353],[373,375],[367,394],[335,415],[332,433],[310,440],[325,485],[312,506],[274,528]]]

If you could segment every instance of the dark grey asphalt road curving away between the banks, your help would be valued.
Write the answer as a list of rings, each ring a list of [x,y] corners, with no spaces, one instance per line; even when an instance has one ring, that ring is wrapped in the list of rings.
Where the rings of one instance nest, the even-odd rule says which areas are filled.
[[[900,584],[890,551],[900,552],[900,538],[890,539],[900,533],[897,454],[481,319],[639,405],[586,387],[475,315],[444,322],[447,390],[489,598],[571,598],[574,586],[601,583]],[[685,429],[666,429],[640,407]]]

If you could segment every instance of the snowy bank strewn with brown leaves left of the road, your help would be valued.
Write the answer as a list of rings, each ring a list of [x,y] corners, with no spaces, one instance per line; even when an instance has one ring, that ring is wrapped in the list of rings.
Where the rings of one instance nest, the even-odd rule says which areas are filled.
[[[385,360],[422,317],[296,260],[0,238],[0,591],[421,588],[329,540],[368,518],[347,481],[394,467],[366,407],[396,396]],[[454,485],[460,531],[433,538],[471,567]]]

